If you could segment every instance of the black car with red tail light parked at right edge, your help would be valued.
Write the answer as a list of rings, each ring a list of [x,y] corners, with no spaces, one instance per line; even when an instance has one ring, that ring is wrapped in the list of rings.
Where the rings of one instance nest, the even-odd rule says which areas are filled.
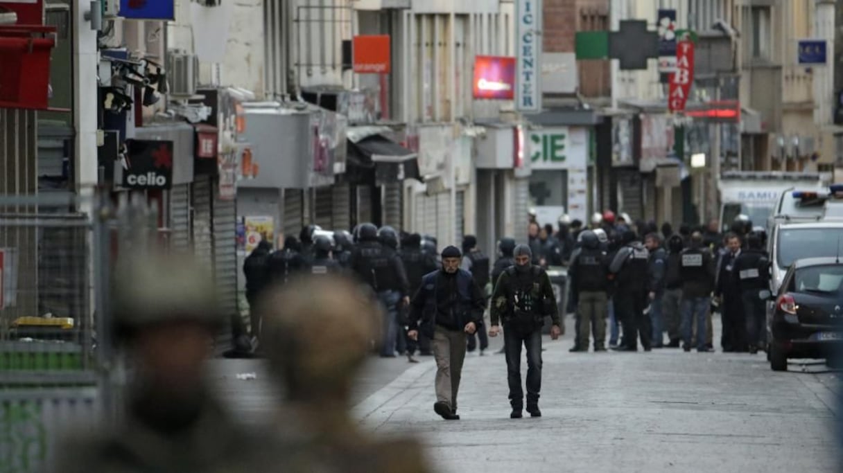
[[[789,358],[837,359],[843,347],[843,263],[838,258],[792,263],[767,324],[774,371],[786,371]]]

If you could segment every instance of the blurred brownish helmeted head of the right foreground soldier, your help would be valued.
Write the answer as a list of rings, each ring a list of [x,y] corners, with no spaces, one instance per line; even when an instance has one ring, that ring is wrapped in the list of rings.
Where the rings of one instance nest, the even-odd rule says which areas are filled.
[[[383,317],[371,298],[348,279],[308,277],[271,293],[258,310],[270,369],[290,399],[347,401]]]

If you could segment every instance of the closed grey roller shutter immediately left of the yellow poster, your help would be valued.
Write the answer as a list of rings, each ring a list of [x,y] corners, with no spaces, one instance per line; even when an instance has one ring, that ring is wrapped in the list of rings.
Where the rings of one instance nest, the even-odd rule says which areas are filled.
[[[214,193],[213,247],[217,299],[226,314],[237,314],[237,204],[234,199],[222,200]]]

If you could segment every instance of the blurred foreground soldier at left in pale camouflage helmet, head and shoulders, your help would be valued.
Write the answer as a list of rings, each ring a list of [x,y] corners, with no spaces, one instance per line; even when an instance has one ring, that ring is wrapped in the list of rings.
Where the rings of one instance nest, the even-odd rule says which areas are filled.
[[[115,340],[132,369],[126,412],[69,440],[54,471],[260,471],[259,439],[228,417],[203,373],[224,322],[210,274],[186,256],[138,254],[115,275]]]

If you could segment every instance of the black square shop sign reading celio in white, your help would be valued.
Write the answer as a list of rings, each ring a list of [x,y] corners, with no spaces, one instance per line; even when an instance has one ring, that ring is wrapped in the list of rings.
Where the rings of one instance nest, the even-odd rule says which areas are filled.
[[[173,183],[173,141],[126,140],[122,186],[169,189]]]

